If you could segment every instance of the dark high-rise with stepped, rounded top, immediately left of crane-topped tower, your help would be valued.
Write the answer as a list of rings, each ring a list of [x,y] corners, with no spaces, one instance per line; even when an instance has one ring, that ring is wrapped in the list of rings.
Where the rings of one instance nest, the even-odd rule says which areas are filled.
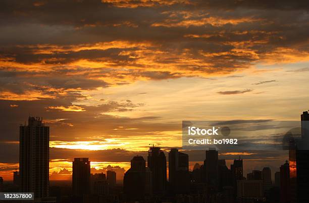
[[[126,200],[142,200],[145,195],[146,161],[143,157],[136,156],[131,160],[131,168],[125,173],[123,179]]]

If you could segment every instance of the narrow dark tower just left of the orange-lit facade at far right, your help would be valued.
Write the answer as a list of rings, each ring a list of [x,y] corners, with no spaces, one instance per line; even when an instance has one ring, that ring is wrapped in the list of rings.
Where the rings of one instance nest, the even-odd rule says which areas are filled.
[[[280,202],[291,202],[290,167],[288,161],[280,167]]]

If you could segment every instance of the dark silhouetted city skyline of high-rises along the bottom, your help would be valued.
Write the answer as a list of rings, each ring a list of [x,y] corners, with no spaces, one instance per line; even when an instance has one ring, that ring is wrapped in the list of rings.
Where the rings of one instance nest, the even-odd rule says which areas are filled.
[[[123,184],[117,184],[116,172],[107,170],[106,174],[92,174],[89,158],[74,158],[72,193],[61,194],[52,189],[56,196],[50,197],[49,126],[44,125],[42,118],[29,116],[28,124],[20,126],[20,166],[19,173],[14,172],[13,186],[22,192],[34,192],[36,200],[50,202],[64,199],[81,203],[163,199],[182,199],[182,202],[200,202],[201,199],[215,202],[307,202],[309,111],[302,112],[300,121],[299,138],[292,134],[291,130],[295,128],[286,138],[289,160],[280,166],[280,171],[273,172],[280,173],[279,177],[274,175],[275,184],[270,167],[264,167],[262,171],[252,170],[245,177],[243,159],[239,157],[227,168],[226,160],[219,159],[216,147],[203,150],[203,164],[195,163],[193,170],[189,170],[187,154],[171,148],[167,162],[164,151],[152,144],[148,150],[147,167],[143,157],[134,156],[130,169],[124,174]],[[233,122],[238,123],[239,120]],[[3,187],[3,177],[0,179],[1,192],[6,187]]]

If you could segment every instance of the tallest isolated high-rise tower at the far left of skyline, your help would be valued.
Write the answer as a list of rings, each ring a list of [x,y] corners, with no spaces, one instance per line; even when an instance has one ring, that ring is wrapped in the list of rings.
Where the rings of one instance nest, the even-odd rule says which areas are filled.
[[[29,117],[19,128],[19,173],[22,192],[47,197],[49,188],[49,127]]]

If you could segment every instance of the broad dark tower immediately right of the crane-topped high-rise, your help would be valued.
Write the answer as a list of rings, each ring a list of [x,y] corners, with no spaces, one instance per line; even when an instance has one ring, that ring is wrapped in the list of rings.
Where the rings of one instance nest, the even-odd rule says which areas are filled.
[[[169,183],[173,193],[189,192],[189,156],[176,148],[172,148],[169,153]]]

